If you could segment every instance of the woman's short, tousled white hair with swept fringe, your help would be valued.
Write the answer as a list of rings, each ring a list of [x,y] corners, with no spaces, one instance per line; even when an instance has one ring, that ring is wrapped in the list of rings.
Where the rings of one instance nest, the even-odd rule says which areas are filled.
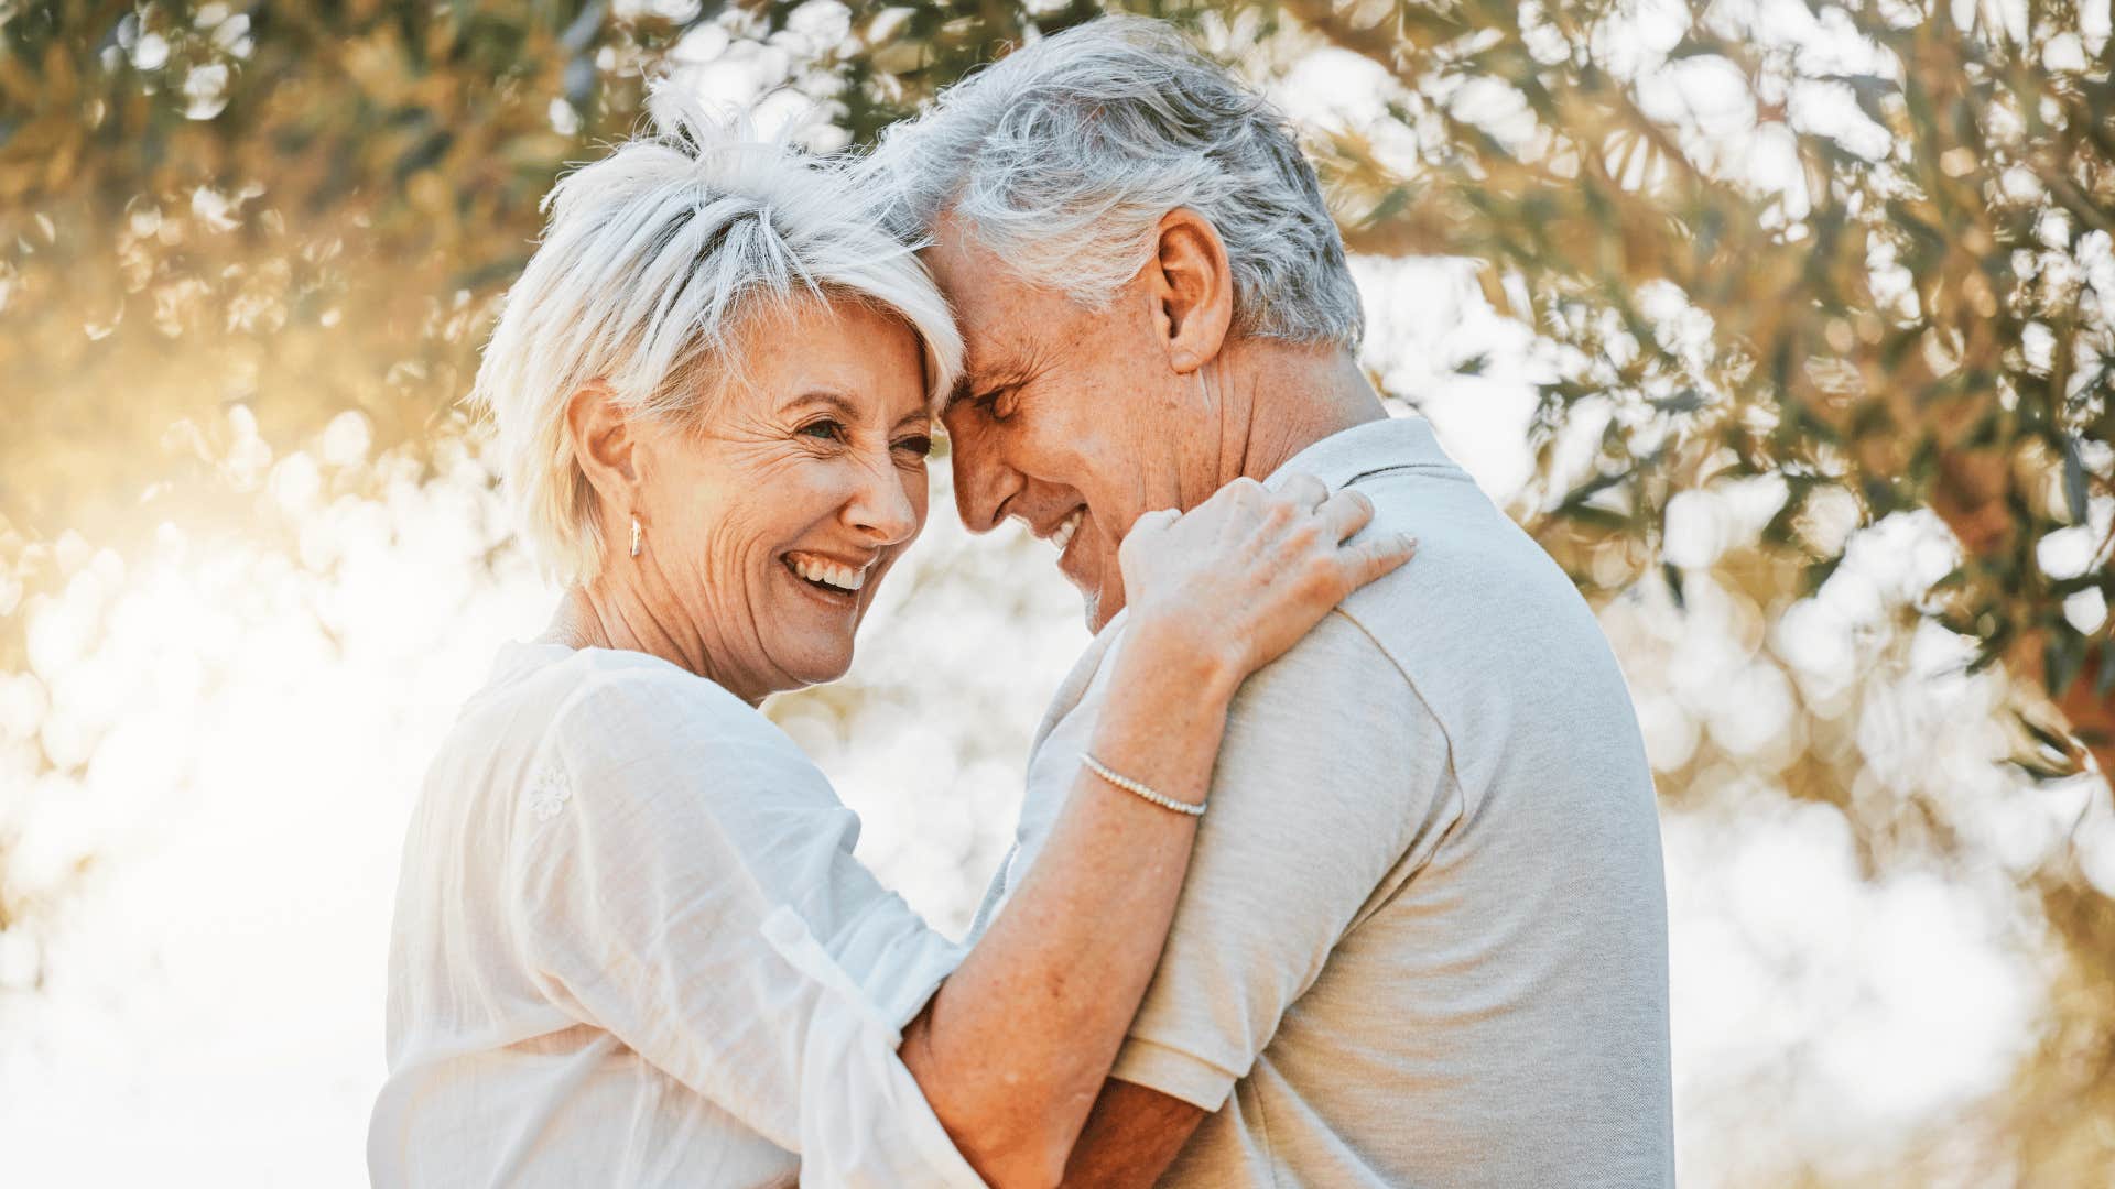
[[[546,573],[588,582],[603,533],[567,432],[571,396],[603,381],[635,415],[702,423],[740,381],[740,336],[810,296],[888,311],[918,334],[937,402],[962,339],[914,243],[854,197],[842,163],[747,138],[660,80],[656,131],[544,197],[550,216],[484,347],[472,400],[499,429],[503,482]]]

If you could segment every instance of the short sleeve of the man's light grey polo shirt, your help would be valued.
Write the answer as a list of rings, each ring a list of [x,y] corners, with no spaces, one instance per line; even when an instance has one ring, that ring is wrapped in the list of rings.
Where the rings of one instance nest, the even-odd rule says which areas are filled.
[[[1438,719],[1330,614],[1233,700],[1167,948],[1112,1077],[1218,1111],[1459,804]]]

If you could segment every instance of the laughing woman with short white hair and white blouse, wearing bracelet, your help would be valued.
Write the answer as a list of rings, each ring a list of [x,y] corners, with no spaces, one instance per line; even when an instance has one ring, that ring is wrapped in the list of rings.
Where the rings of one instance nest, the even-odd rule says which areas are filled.
[[[757,711],[850,664],[924,525],[960,341],[838,173],[725,142],[666,89],[654,110],[660,135],[550,195],[478,374],[522,535],[569,586],[427,774],[370,1174],[1053,1183],[1153,973],[1233,690],[1409,542],[1343,544],[1371,508],[1320,482],[1142,516],[1093,753],[960,952],[852,859],[857,819]]]

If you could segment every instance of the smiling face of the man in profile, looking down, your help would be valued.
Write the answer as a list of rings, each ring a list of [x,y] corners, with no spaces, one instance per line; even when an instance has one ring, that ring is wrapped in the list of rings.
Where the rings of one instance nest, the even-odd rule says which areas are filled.
[[[1191,508],[1218,484],[1203,381],[1170,366],[1144,279],[1102,311],[1030,286],[954,220],[924,252],[969,360],[941,419],[971,531],[1019,516],[1062,546],[1058,569],[1100,630],[1123,609],[1117,546],[1142,512]]]

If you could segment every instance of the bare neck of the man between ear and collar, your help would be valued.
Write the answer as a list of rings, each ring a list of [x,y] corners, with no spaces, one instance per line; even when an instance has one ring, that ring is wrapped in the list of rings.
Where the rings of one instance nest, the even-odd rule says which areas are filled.
[[[1206,383],[1225,402],[1220,482],[1269,478],[1322,438],[1387,419],[1358,360],[1341,347],[1233,341],[1212,362]]]

